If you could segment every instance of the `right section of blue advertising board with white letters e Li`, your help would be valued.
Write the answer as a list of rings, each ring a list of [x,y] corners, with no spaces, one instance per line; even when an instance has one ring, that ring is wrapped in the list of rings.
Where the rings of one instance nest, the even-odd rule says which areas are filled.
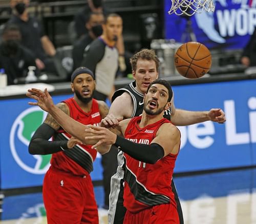
[[[256,80],[245,80],[173,87],[177,108],[222,108],[227,120],[179,127],[182,144],[176,172],[256,165],[255,86]]]

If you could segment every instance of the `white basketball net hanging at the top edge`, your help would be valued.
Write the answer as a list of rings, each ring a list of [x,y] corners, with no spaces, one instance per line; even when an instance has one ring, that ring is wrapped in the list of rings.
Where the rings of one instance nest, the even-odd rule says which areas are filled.
[[[212,0],[171,0],[172,7],[168,14],[191,16],[195,13],[214,12],[215,5]]]

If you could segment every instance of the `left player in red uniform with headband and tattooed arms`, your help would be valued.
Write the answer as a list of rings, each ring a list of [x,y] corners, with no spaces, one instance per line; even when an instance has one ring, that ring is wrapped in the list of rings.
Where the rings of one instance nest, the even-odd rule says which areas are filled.
[[[94,74],[80,67],[73,72],[71,81],[74,97],[58,103],[57,107],[77,122],[99,125],[108,113],[108,106],[92,98]],[[54,141],[48,141],[52,136]],[[42,188],[49,224],[99,222],[90,177],[97,152],[78,143],[81,141],[71,137],[48,114],[29,144],[31,154],[52,154]]]

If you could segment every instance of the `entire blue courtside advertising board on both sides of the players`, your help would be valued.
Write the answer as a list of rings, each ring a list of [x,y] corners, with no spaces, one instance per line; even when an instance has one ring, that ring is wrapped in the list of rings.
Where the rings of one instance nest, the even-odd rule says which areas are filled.
[[[175,105],[187,110],[222,108],[226,123],[179,127],[181,150],[175,172],[256,165],[256,80],[173,86]],[[60,102],[71,95],[54,96]],[[30,155],[28,144],[46,113],[30,99],[0,100],[1,189],[40,186],[50,155]],[[3,128],[4,127],[4,128]],[[102,180],[97,157],[92,180]]]

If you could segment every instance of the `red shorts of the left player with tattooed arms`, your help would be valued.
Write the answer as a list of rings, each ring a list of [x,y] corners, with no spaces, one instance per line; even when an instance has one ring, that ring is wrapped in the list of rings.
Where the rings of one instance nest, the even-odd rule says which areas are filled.
[[[99,223],[91,176],[74,176],[53,167],[47,171],[42,195],[48,224]]]

